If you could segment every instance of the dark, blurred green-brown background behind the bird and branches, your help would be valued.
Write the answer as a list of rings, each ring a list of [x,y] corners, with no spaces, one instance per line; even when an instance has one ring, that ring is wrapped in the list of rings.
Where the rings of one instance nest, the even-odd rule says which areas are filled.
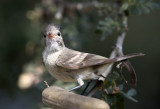
[[[125,12],[128,31],[124,54],[146,54],[130,60],[137,72],[134,98],[139,102],[125,99],[125,108],[159,109],[160,11],[145,7],[143,12],[136,11],[137,2],[122,1],[1,0],[0,108],[46,109],[41,101],[41,93],[46,88],[44,80],[65,89],[76,85],[53,79],[43,66],[43,28],[47,23],[60,25],[67,47],[109,57],[117,38],[116,28],[120,27],[117,25],[121,23],[116,20],[119,18],[116,13],[121,16]],[[139,4],[147,4],[150,0],[140,1]],[[155,2],[160,4],[158,0]],[[110,25],[103,25],[105,22]]]

